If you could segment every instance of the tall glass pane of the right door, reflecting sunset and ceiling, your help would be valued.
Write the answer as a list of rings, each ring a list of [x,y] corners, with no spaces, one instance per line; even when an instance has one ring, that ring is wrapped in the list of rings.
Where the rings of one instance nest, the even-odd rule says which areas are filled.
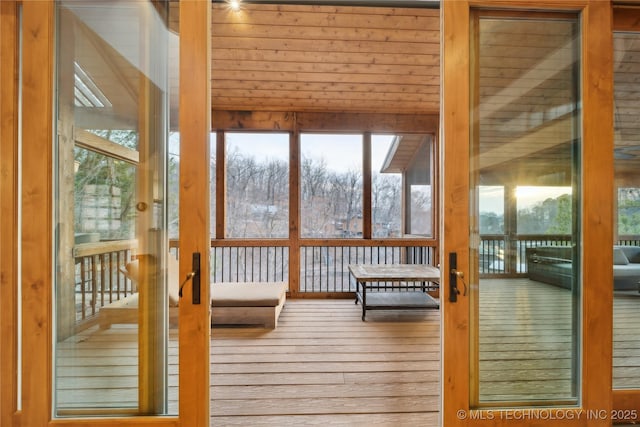
[[[471,241],[481,242],[483,259],[471,263],[480,269],[472,398],[478,406],[576,403],[578,20],[486,14],[477,26]],[[556,187],[562,195],[549,192]]]

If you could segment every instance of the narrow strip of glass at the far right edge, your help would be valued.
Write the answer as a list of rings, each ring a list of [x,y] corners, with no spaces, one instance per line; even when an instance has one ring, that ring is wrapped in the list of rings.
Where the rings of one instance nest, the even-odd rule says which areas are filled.
[[[640,388],[640,33],[614,33],[613,387]]]

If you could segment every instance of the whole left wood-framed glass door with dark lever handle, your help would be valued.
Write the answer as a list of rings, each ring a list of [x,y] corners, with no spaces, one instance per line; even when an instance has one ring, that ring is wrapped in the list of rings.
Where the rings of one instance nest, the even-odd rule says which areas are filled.
[[[210,9],[22,4],[21,425],[209,425]]]

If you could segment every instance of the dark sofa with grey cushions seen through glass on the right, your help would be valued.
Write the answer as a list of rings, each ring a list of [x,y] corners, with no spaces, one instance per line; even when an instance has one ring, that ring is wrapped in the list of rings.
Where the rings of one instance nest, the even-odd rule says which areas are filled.
[[[529,278],[571,289],[573,248],[570,246],[540,246],[527,248]],[[640,246],[613,247],[613,289],[639,290]]]

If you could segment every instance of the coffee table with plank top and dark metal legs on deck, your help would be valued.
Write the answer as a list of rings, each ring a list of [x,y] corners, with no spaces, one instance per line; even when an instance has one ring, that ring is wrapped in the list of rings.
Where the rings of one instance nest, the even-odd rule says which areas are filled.
[[[439,308],[440,303],[426,291],[440,282],[440,270],[424,264],[350,264],[356,281],[356,300],[362,304],[362,320],[367,310]],[[367,290],[376,289],[377,292]]]

